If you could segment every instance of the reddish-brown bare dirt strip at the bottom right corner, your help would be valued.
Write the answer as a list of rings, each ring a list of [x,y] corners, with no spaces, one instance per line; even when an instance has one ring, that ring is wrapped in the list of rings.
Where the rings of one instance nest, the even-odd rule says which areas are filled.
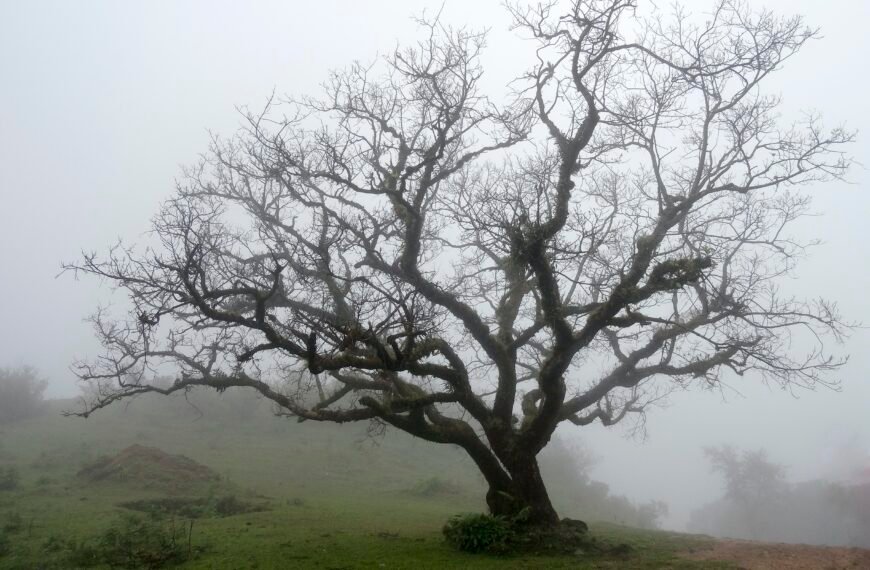
[[[717,540],[709,549],[685,556],[691,560],[724,560],[744,570],[841,570],[870,568],[870,550],[749,540]]]

